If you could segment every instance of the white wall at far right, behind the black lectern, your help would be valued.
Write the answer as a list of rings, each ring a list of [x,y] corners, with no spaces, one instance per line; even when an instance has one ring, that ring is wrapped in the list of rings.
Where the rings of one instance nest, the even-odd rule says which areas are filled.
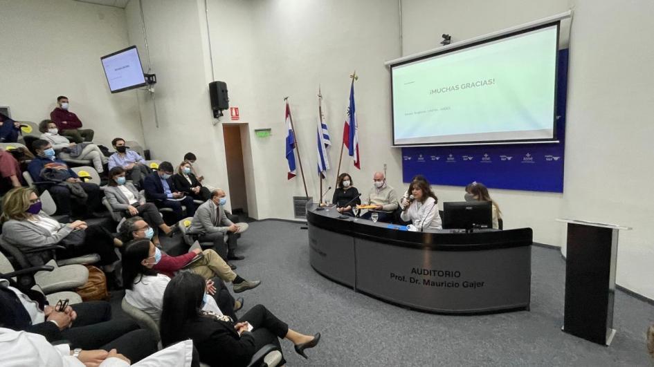
[[[562,215],[621,232],[617,282],[654,299],[654,3],[574,1]]]

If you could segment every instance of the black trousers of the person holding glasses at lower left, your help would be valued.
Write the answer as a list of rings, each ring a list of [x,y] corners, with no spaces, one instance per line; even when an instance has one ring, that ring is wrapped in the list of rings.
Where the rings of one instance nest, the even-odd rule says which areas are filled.
[[[106,301],[75,303],[71,308],[78,317],[73,326],[62,331],[71,348],[84,350],[116,348],[132,363],[156,352],[156,339],[149,330],[141,330],[129,319],[112,320],[111,305]]]

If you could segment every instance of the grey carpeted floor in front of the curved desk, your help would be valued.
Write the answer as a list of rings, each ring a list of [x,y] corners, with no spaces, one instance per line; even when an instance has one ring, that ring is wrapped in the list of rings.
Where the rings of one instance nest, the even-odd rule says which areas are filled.
[[[320,276],[300,226],[251,223],[239,240],[246,259],[235,261],[240,276],[262,281],[239,294],[244,310],[262,303],[291,328],[322,333],[308,361],[282,341],[289,366],[652,366],[645,330],[654,306],[623,292],[616,294],[618,332],[610,347],[561,331],[565,263],[558,250],[532,248],[530,312],[445,316],[390,305]],[[120,308],[119,294],[112,303]]]

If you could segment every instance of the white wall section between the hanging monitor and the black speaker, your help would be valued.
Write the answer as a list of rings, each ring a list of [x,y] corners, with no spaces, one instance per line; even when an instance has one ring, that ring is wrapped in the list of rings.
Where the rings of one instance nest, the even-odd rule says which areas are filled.
[[[127,28],[147,70],[138,5],[133,0],[125,8]],[[154,158],[175,167],[192,151],[206,182],[228,191],[222,126],[212,125],[210,72],[198,1],[143,1],[143,13],[152,72],[157,75],[154,102],[149,93],[139,94],[147,147]]]

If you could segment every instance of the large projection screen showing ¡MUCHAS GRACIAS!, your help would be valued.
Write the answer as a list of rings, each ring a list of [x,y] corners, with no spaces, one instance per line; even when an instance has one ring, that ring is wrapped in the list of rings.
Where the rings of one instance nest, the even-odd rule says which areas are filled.
[[[393,64],[393,144],[555,141],[558,27]]]

